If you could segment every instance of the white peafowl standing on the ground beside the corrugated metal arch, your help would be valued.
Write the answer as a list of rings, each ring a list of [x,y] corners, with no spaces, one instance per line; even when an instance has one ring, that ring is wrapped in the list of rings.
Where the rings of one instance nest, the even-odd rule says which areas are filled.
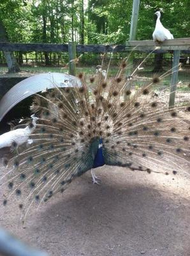
[[[36,128],[36,120],[38,117],[31,115],[32,122],[25,128],[12,130],[0,135],[0,148],[11,147],[16,148],[22,145],[24,142],[28,144],[33,143],[33,140],[29,139],[29,135]]]

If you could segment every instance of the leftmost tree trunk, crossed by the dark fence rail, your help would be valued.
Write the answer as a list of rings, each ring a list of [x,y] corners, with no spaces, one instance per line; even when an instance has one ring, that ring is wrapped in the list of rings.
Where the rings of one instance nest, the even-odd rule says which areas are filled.
[[[0,20],[0,38],[1,38],[1,42],[8,42],[8,35],[6,33],[6,29],[4,28],[4,24],[2,20]],[[4,51],[4,57],[6,59],[9,73],[20,72],[20,68],[18,66],[17,60],[13,52]]]

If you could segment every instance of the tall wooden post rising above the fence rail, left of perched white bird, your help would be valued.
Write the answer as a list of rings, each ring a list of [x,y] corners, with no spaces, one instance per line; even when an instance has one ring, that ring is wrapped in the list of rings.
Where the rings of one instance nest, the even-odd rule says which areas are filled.
[[[140,0],[133,0],[133,11],[132,11],[132,16],[131,16],[131,28],[130,28],[130,34],[129,34],[129,41],[133,41],[136,38],[136,28],[137,28],[137,22],[138,22],[138,11],[139,11],[139,6],[140,6]],[[133,67],[133,59],[134,59],[134,53],[131,53],[131,56],[129,57],[128,60],[128,66],[130,68],[128,68],[126,75],[130,76],[130,74],[132,73],[132,69],[131,67]],[[128,88],[126,88],[126,90],[128,90],[130,87],[130,85],[128,86]],[[124,90],[124,101],[129,100],[129,96],[126,95],[126,90]]]

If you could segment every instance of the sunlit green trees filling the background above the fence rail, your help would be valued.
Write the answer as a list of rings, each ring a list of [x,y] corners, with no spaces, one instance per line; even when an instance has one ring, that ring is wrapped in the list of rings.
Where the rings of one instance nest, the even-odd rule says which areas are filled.
[[[142,0],[137,39],[152,39],[154,12],[175,38],[190,35],[189,0]],[[129,38],[133,1],[1,0],[0,17],[10,42],[124,44]]]

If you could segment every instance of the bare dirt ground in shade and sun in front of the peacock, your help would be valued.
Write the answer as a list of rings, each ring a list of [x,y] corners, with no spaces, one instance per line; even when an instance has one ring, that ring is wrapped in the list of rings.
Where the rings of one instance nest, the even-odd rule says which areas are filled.
[[[26,228],[14,202],[1,206],[1,227],[49,255],[190,255],[187,175],[173,178],[115,166],[96,170],[101,185],[93,185],[91,173],[85,173],[37,213],[31,209]]]

